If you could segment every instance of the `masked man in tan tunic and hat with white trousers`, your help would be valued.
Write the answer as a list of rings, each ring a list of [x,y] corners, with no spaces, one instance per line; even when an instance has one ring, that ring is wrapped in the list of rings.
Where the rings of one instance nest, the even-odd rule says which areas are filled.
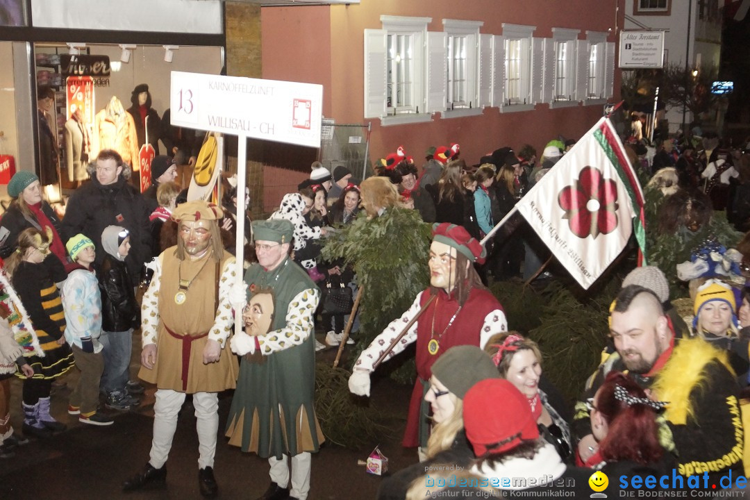
[[[219,424],[217,393],[236,385],[236,357],[224,349],[233,324],[229,290],[235,260],[223,250],[219,207],[203,201],[179,205],[176,247],[157,259],[142,302],[139,377],[157,385],[154,436],[145,468],[124,491],[166,486],[166,463],[185,394],[193,394],[202,496],[217,494],[213,465]]]

